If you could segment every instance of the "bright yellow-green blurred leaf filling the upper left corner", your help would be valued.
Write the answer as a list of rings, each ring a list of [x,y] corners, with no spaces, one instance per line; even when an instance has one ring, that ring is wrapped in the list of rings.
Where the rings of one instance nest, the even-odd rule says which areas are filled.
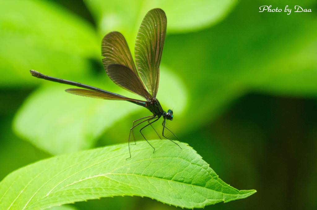
[[[84,72],[100,55],[92,25],[52,2],[0,1],[0,29],[2,85],[35,83],[29,69]]]

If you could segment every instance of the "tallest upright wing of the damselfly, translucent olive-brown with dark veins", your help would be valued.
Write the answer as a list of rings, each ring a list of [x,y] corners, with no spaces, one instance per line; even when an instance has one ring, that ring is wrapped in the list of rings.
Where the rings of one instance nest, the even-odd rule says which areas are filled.
[[[153,98],[159,87],[159,64],[166,33],[166,15],[162,9],[152,9],[144,17],[134,47],[137,70]]]

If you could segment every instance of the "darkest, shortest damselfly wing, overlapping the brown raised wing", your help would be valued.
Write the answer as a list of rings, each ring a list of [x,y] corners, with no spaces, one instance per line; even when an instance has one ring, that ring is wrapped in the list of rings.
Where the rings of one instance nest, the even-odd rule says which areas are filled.
[[[152,96],[146,91],[139,77],[128,67],[119,64],[110,64],[106,72],[109,78],[118,86],[138,94],[146,100],[152,100]]]

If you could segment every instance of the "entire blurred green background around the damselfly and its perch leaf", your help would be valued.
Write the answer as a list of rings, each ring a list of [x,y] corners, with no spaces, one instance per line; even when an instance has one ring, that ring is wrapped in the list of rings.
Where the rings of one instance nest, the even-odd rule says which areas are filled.
[[[259,12],[263,5],[282,12]],[[312,12],[294,12],[295,5]],[[28,70],[131,96],[107,78],[101,39],[120,31],[133,53],[142,18],[156,7],[167,16],[157,97],[174,111],[169,128],[224,182],[257,190],[205,209],[316,209],[317,2],[311,0],[1,0],[0,180],[55,154],[127,142],[132,121],[149,115],[146,109],[73,96],[63,91],[69,86]],[[72,207],[175,209],[139,197]]]

